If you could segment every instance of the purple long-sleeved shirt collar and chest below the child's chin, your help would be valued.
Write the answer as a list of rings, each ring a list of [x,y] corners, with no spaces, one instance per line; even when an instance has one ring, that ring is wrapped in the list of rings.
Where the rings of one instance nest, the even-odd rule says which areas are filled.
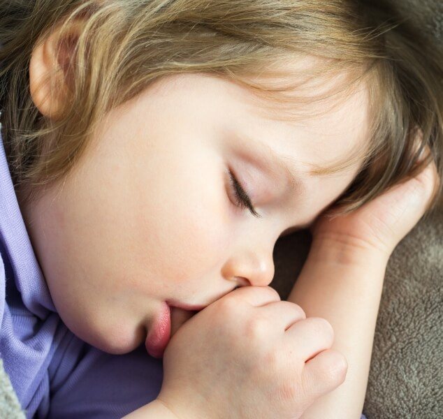
[[[27,418],[121,418],[157,397],[161,360],[144,344],[111,355],[55,310],[29,240],[0,133],[0,357]]]

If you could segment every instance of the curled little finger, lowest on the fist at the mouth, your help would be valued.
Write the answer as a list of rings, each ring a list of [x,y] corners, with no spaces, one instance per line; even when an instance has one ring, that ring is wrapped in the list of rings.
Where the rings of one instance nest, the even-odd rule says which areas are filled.
[[[335,390],[344,382],[347,360],[334,349],[327,349],[305,363],[302,372],[303,390],[314,399]]]

